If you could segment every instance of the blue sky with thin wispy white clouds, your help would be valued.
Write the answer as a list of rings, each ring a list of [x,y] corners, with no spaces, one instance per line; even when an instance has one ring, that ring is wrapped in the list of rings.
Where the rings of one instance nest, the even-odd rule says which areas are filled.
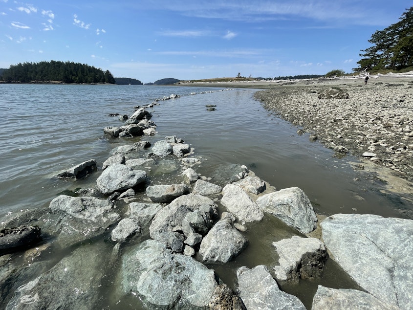
[[[0,0],[0,67],[73,61],[143,83],[351,72],[408,0]]]

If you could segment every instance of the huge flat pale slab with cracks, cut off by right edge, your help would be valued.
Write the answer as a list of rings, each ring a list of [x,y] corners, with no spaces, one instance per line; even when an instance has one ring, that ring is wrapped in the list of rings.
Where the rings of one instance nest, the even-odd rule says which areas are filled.
[[[413,221],[336,214],[322,223],[337,263],[367,292],[400,309],[413,309]]]

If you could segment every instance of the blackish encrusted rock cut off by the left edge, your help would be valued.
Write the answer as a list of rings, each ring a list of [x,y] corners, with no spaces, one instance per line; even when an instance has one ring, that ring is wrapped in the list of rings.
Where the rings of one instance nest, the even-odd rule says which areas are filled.
[[[41,240],[40,227],[21,225],[0,230],[0,255],[13,248],[27,248]]]

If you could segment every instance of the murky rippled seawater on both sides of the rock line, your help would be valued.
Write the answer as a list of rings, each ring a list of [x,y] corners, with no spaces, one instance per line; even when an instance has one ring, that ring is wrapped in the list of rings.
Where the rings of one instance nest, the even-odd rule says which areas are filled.
[[[122,125],[117,117],[109,117],[109,113],[131,115],[136,105],[147,105],[156,98],[177,93],[180,98],[160,101],[159,106],[154,106],[152,120],[158,126],[158,133],[145,139],[152,143],[166,135],[184,139],[195,148],[195,155],[203,158],[196,167],[198,173],[209,177],[222,164],[239,163],[278,189],[300,187],[321,215],[410,217],[411,193],[392,194],[374,175],[354,171],[355,159],[351,156],[335,157],[333,151],[320,143],[309,142],[308,135],[298,135],[298,128],[265,111],[253,99],[256,90],[190,95],[211,90],[221,89],[0,85],[0,216],[13,210],[47,206],[62,191],[93,186],[100,171],[77,181],[54,176],[90,158],[96,159],[100,167],[111,149],[132,143],[133,140],[103,136],[104,127]],[[207,104],[217,105],[216,111],[207,111]],[[248,228],[248,248],[228,265],[210,266],[232,287],[236,285],[237,267],[275,265],[277,257],[272,242],[297,234],[271,218],[249,224]],[[103,253],[112,246],[104,244]],[[325,274],[328,276],[317,283],[302,281],[283,288],[294,292],[310,307],[318,283],[355,287],[330,260]],[[113,282],[106,281],[110,291]],[[104,290],[102,296],[106,296]],[[102,297],[101,308],[116,308],[113,303],[109,297]],[[122,302],[122,307],[134,309],[128,304],[129,301]]]

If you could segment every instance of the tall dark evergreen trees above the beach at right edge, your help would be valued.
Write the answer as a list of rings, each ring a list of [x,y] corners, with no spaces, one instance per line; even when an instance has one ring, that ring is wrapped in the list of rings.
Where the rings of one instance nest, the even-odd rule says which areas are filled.
[[[353,71],[364,70],[401,70],[413,66],[413,6],[399,18],[399,22],[391,24],[383,30],[371,35],[367,49],[361,50],[359,67]]]

